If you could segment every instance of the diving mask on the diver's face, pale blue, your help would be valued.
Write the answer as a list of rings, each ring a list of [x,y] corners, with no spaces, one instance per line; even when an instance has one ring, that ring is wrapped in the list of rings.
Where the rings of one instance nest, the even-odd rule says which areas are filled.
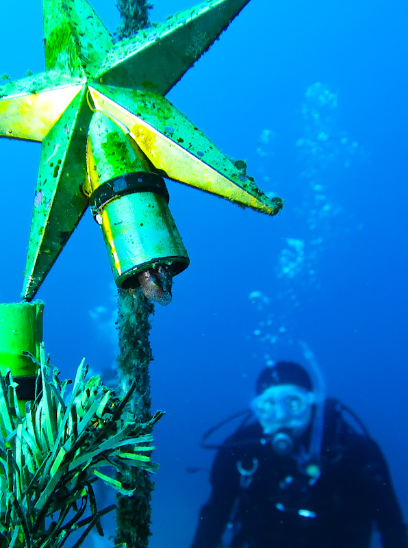
[[[251,401],[265,434],[288,428],[303,432],[311,419],[314,394],[295,384],[270,386]]]

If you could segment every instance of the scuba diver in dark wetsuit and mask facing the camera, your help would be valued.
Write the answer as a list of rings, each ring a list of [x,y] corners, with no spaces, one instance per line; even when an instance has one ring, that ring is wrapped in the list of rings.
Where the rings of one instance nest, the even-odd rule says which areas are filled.
[[[222,445],[206,440],[226,421],[203,437],[218,453],[191,548],[368,548],[374,525],[383,548],[408,548],[383,453],[320,372],[277,362],[256,393]]]

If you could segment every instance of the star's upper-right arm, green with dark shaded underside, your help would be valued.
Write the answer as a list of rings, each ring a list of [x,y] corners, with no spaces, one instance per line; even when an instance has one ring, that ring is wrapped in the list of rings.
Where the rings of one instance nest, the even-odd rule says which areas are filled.
[[[115,45],[95,80],[166,95],[248,1],[207,0],[139,31]]]

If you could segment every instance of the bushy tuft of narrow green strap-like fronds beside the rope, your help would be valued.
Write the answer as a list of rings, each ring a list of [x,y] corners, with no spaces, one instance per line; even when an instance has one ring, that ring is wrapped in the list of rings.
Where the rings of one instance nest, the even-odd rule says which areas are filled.
[[[22,416],[16,382],[8,371],[0,386],[0,543],[9,548],[60,548],[83,527],[79,547],[92,527],[114,506],[97,509],[92,484],[103,481],[132,495],[115,472],[129,466],[154,472],[151,430],[157,412],[138,423],[126,406],[134,387],[122,399],[99,376],[86,380],[84,360],[71,393],[58,370],[40,352],[36,399]],[[88,512],[88,516],[86,516]]]

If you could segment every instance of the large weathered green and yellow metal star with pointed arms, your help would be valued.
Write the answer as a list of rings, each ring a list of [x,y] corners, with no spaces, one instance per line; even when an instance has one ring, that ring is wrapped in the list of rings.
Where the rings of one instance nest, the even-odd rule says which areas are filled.
[[[151,171],[266,214],[281,209],[244,162],[223,155],[164,97],[246,3],[208,0],[115,43],[86,0],[42,1],[46,71],[0,88],[0,136],[42,143],[24,299],[34,297],[88,206],[95,111],[127,134]]]

